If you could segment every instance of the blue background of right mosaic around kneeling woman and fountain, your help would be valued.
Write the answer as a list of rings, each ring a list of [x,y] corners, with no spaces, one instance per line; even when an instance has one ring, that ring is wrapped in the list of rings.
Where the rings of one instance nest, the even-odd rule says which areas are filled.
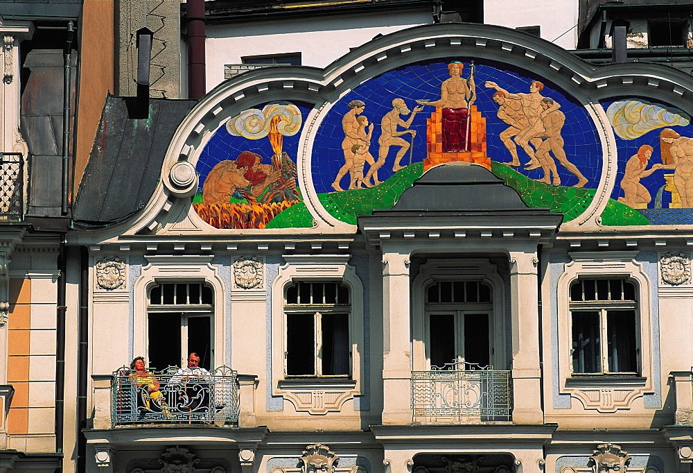
[[[649,103],[647,98],[628,97],[622,100],[635,100]],[[604,107],[604,110],[606,110],[612,103],[613,101],[603,102],[602,107]],[[664,128],[672,128],[672,130],[676,131],[682,137],[693,137],[692,126],[666,126]],[[640,148],[640,146],[649,144],[649,146],[652,146],[653,148],[652,157],[647,164],[645,164],[645,169],[651,168],[653,164],[662,164],[659,134],[664,128],[656,128],[655,130],[651,130],[636,139],[623,139],[618,135],[615,135],[618,150],[618,166],[616,171],[616,182],[613,187],[613,191],[611,192],[611,198],[613,200],[617,200],[619,197],[624,196],[624,192],[623,189],[621,189],[620,184],[621,180],[623,179],[626,162],[628,162],[631,156],[638,154],[638,148]],[[669,205],[672,203],[672,194],[663,189],[665,185],[665,173],[672,174],[674,173],[674,170],[658,169],[651,175],[640,180],[640,184],[647,188],[652,200],[647,205],[647,209],[636,209],[636,211],[644,215],[649,223],[655,225],[693,225],[692,209],[669,208]]]

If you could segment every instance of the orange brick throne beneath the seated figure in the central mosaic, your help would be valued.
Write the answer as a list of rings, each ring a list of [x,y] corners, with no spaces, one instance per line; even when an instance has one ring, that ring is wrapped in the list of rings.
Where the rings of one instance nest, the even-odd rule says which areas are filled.
[[[435,107],[435,112],[426,119],[426,158],[423,171],[445,162],[471,162],[491,169],[491,158],[486,155],[486,119],[471,106],[469,120],[469,141],[466,151],[445,152],[443,150],[443,108]]]

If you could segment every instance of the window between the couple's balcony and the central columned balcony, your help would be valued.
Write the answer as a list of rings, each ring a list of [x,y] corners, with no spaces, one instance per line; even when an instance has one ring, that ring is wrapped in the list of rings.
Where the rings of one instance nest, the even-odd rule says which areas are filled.
[[[286,291],[286,375],[349,376],[349,289],[298,282]]]

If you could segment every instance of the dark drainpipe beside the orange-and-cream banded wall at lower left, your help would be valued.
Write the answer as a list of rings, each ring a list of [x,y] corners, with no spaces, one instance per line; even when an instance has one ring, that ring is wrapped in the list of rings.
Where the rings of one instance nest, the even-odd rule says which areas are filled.
[[[65,289],[67,278],[67,248],[65,246],[65,236],[62,235],[60,241],[60,255],[58,255],[58,314],[56,329],[55,346],[55,451],[62,453],[62,431],[64,428],[64,407],[65,407]],[[62,471],[62,465],[59,469]]]

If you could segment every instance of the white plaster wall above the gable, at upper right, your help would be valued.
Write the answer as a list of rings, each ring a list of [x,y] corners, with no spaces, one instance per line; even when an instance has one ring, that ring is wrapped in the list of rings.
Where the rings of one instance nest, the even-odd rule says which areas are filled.
[[[575,49],[577,8],[577,0],[484,0],[484,23],[508,28],[540,26],[543,40]]]

